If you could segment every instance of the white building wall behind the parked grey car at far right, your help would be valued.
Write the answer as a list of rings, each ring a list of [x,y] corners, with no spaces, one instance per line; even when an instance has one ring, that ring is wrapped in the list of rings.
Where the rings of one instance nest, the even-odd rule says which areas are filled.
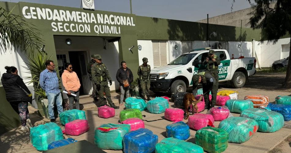
[[[270,67],[274,60],[281,59],[283,44],[290,44],[290,38],[279,39],[276,44],[263,41],[261,44],[261,67]]]

